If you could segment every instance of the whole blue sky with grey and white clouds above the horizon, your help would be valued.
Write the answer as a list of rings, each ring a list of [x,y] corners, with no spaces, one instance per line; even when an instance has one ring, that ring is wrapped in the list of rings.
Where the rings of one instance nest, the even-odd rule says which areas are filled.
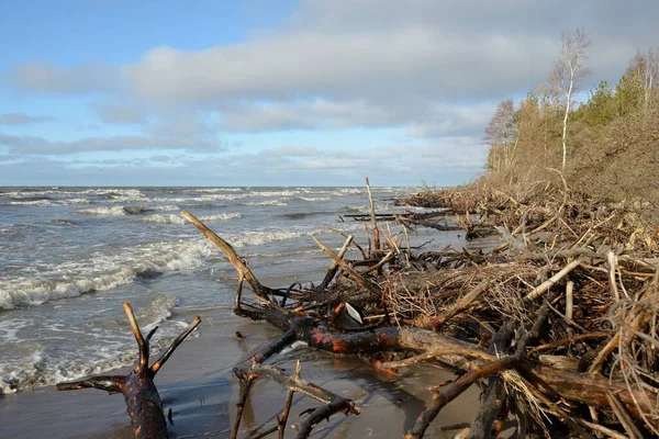
[[[584,90],[652,0],[0,0],[0,185],[451,185],[562,31]]]

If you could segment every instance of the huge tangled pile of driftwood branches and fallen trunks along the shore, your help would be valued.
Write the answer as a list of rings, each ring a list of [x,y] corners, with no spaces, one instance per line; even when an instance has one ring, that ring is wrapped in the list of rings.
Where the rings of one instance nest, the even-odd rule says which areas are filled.
[[[406,438],[423,437],[442,407],[472,384],[484,393],[465,431],[472,438],[495,436],[510,419],[517,437],[659,436],[656,224],[639,210],[578,199],[565,182],[478,183],[401,202],[443,207],[470,237],[498,230],[502,244],[484,255],[451,248],[415,255],[402,236],[383,233],[372,212],[362,260],[344,259],[353,236],[338,254],[317,241],[333,259],[324,281],[271,289],[226,241],[183,213],[238,271],[235,313],[283,330],[235,368],[244,383],[241,404],[264,376],[289,395],[322,403],[298,437],[334,413],[359,413],[351,401],[301,384],[300,370],[289,376],[264,364],[302,340],[360,353],[390,371],[423,361],[457,371],[456,380],[432,390],[433,402]],[[411,217],[403,223],[414,227]],[[243,295],[245,281],[250,299]],[[270,431],[283,432],[289,408],[290,397]]]

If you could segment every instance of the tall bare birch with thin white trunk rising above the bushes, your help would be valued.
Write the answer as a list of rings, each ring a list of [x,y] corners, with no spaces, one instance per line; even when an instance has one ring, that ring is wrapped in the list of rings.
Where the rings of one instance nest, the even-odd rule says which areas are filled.
[[[572,105],[572,97],[579,91],[581,81],[591,71],[585,67],[587,50],[591,45],[590,38],[580,30],[565,31],[561,35],[560,56],[554,65],[550,76],[551,86],[566,99],[566,111],[562,126],[562,169],[566,169],[568,146],[568,119]]]

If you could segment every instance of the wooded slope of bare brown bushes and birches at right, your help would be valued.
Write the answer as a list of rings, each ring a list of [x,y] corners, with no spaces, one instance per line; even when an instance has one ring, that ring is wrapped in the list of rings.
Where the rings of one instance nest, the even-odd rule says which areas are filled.
[[[656,203],[659,49],[638,50],[617,83],[602,80],[583,93],[596,75],[588,67],[590,47],[583,31],[565,32],[546,83],[520,103],[498,105],[483,138],[487,170],[511,182],[541,179],[554,168],[596,200]]]

